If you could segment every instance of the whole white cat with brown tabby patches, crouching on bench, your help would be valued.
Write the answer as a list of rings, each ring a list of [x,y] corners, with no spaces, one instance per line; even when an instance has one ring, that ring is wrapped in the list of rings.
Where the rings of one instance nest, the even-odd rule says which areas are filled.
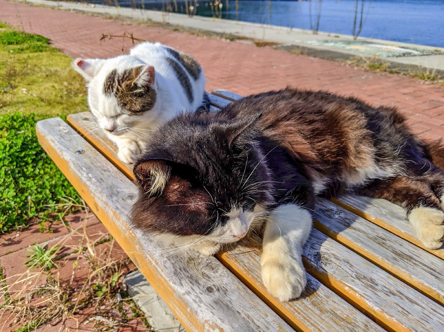
[[[140,43],[111,59],[75,59],[73,66],[88,82],[91,112],[125,163],[138,159],[150,133],[166,120],[208,108],[201,66],[160,43]]]

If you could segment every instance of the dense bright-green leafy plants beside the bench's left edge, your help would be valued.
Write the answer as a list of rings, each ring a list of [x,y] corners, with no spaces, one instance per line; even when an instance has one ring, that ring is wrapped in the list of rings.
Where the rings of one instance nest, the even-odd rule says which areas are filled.
[[[0,115],[0,233],[57,211],[48,205],[63,203],[60,197],[78,197],[37,141],[37,120],[34,114]]]

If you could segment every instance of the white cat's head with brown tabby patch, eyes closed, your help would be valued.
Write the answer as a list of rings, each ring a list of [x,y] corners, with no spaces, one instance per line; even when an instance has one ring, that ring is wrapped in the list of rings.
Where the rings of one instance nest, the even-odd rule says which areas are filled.
[[[87,80],[90,109],[109,133],[126,133],[156,103],[155,69],[134,56],[75,59],[73,66]]]

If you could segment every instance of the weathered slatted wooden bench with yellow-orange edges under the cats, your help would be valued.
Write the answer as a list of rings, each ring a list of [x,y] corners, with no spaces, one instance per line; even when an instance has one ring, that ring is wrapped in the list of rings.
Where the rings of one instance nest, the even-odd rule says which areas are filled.
[[[214,109],[238,98],[210,94]],[[402,208],[352,195],[319,199],[304,252],[307,288],[282,303],[262,284],[260,238],[202,258],[159,254],[150,235],[136,234],[131,165],[92,123],[89,112],[67,123],[56,117],[40,121],[37,135],[188,331],[444,331],[444,250],[424,249]]]

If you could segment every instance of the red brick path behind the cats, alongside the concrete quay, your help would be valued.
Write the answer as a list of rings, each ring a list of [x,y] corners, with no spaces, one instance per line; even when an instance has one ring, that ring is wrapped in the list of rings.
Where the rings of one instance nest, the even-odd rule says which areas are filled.
[[[397,74],[378,74],[339,62],[292,55],[159,27],[122,24],[61,10],[0,0],[0,21],[51,39],[72,57],[106,58],[127,52],[131,42],[113,39],[100,45],[102,33],[134,33],[196,57],[207,78],[207,90],[252,94],[287,85],[329,90],[363,98],[375,105],[396,105],[422,137],[444,137],[444,89]]]

